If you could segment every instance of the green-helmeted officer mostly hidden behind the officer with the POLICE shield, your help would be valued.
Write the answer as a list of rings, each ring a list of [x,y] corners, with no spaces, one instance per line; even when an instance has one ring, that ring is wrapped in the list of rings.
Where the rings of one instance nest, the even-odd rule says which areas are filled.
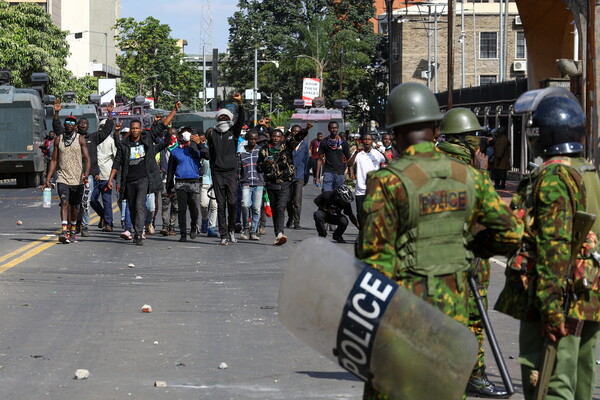
[[[480,137],[475,136],[481,130],[483,128],[479,124],[477,116],[471,110],[453,108],[444,115],[444,119],[440,124],[440,133],[445,135],[446,140],[438,144],[438,149],[450,157],[472,165],[475,173],[482,174],[487,178],[487,156],[479,151]],[[479,295],[487,308],[487,289],[490,284],[489,260],[482,259],[478,264],[477,270],[471,272],[475,274],[475,278],[479,284]],[[475,303],[473,293],[469,296],[469,329],[477,337],[479,353],[477,355],[477,364],[475,364],[475,368],[467,384],[467,394],[477,397],[505,398],[508,395],[506,390],[497,388],[485,373],[483,321]]]

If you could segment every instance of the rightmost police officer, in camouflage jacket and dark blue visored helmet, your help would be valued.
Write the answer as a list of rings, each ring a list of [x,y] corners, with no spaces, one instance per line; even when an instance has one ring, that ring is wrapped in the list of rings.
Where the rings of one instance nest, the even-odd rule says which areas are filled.
[[[596,219],[571,268],[573,218],[577,211],[600,217],[600,180],[582,157],[585,116],[576,98],[561,88],[524,93],[515,103],[524,113],[533,157],[543,163],[524,179],[511,206],[522,216],[522,247],[509,259],[506,284],[495,309],[519,320],[519,363],[525,399],[533,399],[546,340],[558,341],[546,399],[590,400],[595,386],[595,347],[600,321]],[[583,278],[587,285],[580,285]],[[574,295],[577,297],[574,298]],[[565,304],[567,298],[574,298]],[[568,310],[565,311],[565,306]],[[577,325],[581,335],[570,329]]]

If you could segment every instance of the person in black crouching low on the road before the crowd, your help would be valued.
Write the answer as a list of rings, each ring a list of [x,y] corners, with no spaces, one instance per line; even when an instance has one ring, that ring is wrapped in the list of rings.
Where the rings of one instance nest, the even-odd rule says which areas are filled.
[[[338,186],[333,191],[323,192],[315,198],[315,204],[319,209],[314,212],[313,217],[320,237],[327,237],[325,224],[336,225],[337,227],[333,231],[333,240],[338,243],[347,243],[342,235],[348,227],[348,218],[356,228],[359,228],[358,220],[352,212],[353,201],[354,194],[346,185]]]

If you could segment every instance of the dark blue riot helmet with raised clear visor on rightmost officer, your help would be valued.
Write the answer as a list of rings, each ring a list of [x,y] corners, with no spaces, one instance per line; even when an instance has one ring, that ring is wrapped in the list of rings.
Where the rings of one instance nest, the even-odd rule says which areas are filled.
[[[525,135],[534,157],[583,151],[585,115],[568,90],[552,87],[526,92],[517,99],[515,113],[526,113]]]

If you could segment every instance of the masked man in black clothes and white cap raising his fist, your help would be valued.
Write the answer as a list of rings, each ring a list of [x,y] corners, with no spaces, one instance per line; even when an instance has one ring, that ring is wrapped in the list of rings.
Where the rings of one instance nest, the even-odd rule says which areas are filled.
[[[210,155],[210,170],[213,189],[217,198],[217,218],[221,245],[236,243],[235,217],[237,213],[238,159],[236,156],[238,138],[242,133],[244,107],[242,96],[233,95],[238,104],[238,117],[233,122],[233,113],[227,109],[217,112],[217,124],[206,132]]]

